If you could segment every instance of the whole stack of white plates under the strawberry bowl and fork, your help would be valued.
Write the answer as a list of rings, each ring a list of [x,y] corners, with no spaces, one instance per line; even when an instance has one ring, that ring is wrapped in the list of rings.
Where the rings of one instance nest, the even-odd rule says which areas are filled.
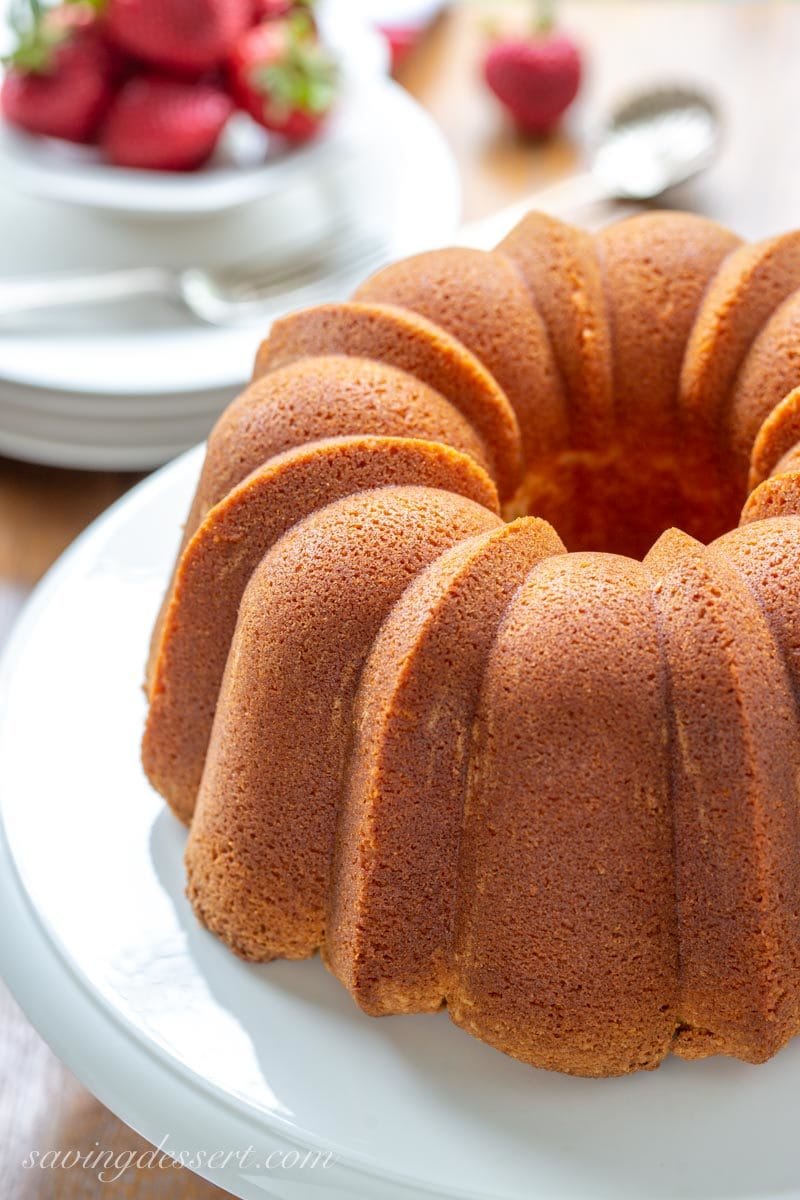
[[[0,169],[17,187],[0,193],[0,275],[270,263],[289,244],[313,257],[332,229],[354,246],[366,238],[375,266],[446,241],[459,212],[452,156],[386,79],[372,36],[342,47],[345,92],[326,136],[266,166],[223,157],[194,176],[120,172],[5,130]],[[365,274],[357,257],[351,277],[339,271],[314,288],[314,302],[349,294]],[[228,329],[142,299],[5,318],[0,452],[97,469],[166,462],[206,436],[247,380],[270,319],[302,302],[277,295],[258,322]]]

